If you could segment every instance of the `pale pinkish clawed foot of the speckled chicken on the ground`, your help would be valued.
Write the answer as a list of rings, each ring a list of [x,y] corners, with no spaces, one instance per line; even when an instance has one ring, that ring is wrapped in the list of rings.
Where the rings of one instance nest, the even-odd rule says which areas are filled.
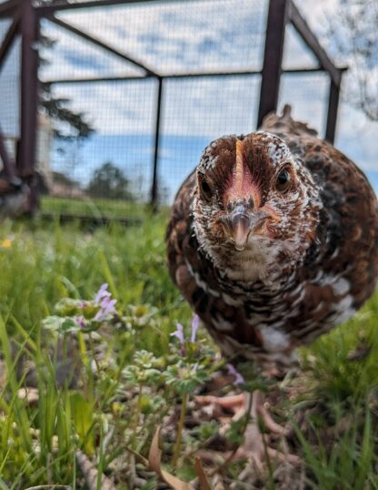
[[[252,400],[251,400],[252,396]],[[285,443],[285,436],[290,434],[290,430],[277,424],[264,403],[264,395],[261,392],[255,391],[250,393],[241,393],[234,396],[225,396],[218,398],[216,396],[198,396],[198,403],[207,405],[212,408],[214,417],[224,422],[225,414],[232,413],[231,418],[228,418],[228,423],[225,423],[220,430],[224,434],[230,424],[240,420],[249,413],[249,422],[244,430],[244,444],[240,445],[234,451],[224,452],[222,454],[212,453],[210,451],[202,451],[201,456],[206,460],[211,460],[214,463],[220,463],[222,456],[223,464],[247,459],[254,467],[262,470],[266,464],[278,463],[300,463],[300,458],[294,454],[290,454]],[[264,432],[260,429],[259,421],[264,426]],[[280,450],[271,447],[272,439],[280,439]]]

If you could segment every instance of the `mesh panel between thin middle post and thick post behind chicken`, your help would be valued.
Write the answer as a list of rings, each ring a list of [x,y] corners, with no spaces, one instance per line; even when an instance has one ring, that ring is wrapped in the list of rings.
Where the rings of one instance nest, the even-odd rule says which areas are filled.
[[[216,77],[164,83],[160,184],[172,200],[210,141],[256,126],[260,77]],[[180,115],[177,120],[177,115]]]

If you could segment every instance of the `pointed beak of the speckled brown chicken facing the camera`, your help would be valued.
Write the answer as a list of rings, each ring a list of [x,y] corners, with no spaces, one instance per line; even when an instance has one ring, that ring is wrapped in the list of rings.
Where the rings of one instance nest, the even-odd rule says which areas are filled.
[[[245,249],[251,231],[259,229],[266,217],[267,213],[264,211],[234,210],[229,216],[228,227],[236,250],[242,251]]]

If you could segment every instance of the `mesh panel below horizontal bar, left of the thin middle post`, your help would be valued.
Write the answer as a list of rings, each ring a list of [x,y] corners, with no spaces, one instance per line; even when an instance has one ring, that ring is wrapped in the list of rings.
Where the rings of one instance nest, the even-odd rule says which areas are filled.
[[[94,134],[81,141],[55,140],[51,168],[75,181],[74,196],[84,198],[96,170],[111,163],[130,181],[124,198],[130,191],[134,199],[147,199],[151,188],[156,85],[154,79],[147,79],[55,87],[54,97],[69,98],[69,107],[82,112],[94,128]],[[64,195],[65,189],[61,188],[55,186],[55,194]],[[73,189],[66,190],[72,194]],[[123,198],[119,189],[114,189],[112,195],[106,182],[88,193],[98,199]]]

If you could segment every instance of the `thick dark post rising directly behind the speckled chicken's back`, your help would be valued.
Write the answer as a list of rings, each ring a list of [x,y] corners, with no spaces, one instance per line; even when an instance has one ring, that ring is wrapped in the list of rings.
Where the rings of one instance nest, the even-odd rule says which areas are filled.
[[[258,128],[264,117],[277,108],[288,5],[289,0],[269,0],[260,106],[257,117]]]

